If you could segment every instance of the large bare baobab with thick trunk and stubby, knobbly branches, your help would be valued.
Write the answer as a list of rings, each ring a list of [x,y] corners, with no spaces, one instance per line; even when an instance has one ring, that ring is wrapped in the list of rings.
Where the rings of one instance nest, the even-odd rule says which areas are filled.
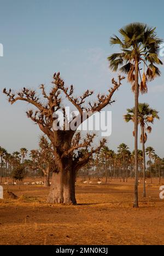
[[[49,203],[76,204],[75,199],[75,176],[77,171],[87,164],[91,156],[100,150],[106,139],[102,139],[98,147],[93,147],[95,134],[87,133],[84,139],[81,139],[80,132],[77,132],[78,126],[87,120],[91,114],[100,112],[104,107],[115,102],[112,96],[121,86],[122,79],[119,75],[118,82],[113,78],[113,86],[109,89],[107,95],[97,96],[95,103],[88,103],[84,106],[86,98],[93,94],[93,91],[86,90],[80,97],[74,97],[74,87],[68,89],[65,82],[60,77],[60,73],[54,74],[52,88],[49,94],[45,90],[44,84],[40,85],[42,98],[37,96],[36,91],[23,88],[16,94],[11,91],[3,90],[8,96],[11,104],[17,101],[25,101],[32,104],[37,109],[28,110],[27,117],[38,124],[40,130],[48,136],[52,143],[52,153],[54,154],[54,172],[52,173],[52,183],[48,195]],[[61,92],[66,96],[75,108],[78,110],[78,117],[68,120],[65,108],[63,108]],[[58,110],[63,114],[63,127],[58,126]],[[87,112],[84,119],[84,110]],[[90,113],[90,114],[88,114]],[[55,125],[54,125],[55,123]],[[75,127],[77,125],[77,127]],[[55,127],[54,127],[55,126]],[[57,129],[58,126],[58,129]],[[73,128],[72,128],[73,127]],[[85,149],[83,153],[81,149]]]

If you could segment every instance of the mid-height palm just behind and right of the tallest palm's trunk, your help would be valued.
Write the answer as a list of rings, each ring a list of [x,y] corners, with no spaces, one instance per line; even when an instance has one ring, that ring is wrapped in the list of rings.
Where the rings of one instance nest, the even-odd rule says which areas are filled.
[[[126,122],[133,121],[134,122],[134,108],[128,108],[127,114],[124,115],[124,119]],[[154,123],[154,119],[160,119],[159,112],[157,110],[150,108],[149,104],[147,103],[139,103],[138,104],[138,124],[140,124],[141,136],[140,142],[142,143],[142,151],[143,151],[143,197],[146,196],[146,188],[145,188],[145,143],[147,142],[147,133],[146,130],[150,133],[152,128],[150,124]]]

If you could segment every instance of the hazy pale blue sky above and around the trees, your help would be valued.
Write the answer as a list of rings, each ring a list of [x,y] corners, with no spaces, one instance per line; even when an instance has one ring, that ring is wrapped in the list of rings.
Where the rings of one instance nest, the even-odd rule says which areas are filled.
[[[52,75],[60,71],[66,84],[75,86],[75,94],[86,89],[105,93],[116,77],[108,68],[107,57],[116,49],[109,38],[131,22],[143,22],[156,27],[164,38],[163,0],[132,1],[109,0],[0,0],[0,43],[4,56],[0,57],[0,146],[13,152],[21,147],[38,148],[37,125],[26,117],[30,108],[25,102],[10,105],[3,88],[19,90],[23,86],[38,90],[40,84],[51,86]],[[164,62],[164,57],[161,58]],[[160,157],[163,152],[163,93],[162,75],[149,83],[147,95],[139,102],[147,102],[159,111],[147,146],[152,146]],[[112,135],[108,147],[117,150],[124,142],[133,150],[132,124],[126,124],[123,115],[133,107],[134,96],[125,80],[114,95],[112,110]],[[139,143],[139,148],[141,145]]]

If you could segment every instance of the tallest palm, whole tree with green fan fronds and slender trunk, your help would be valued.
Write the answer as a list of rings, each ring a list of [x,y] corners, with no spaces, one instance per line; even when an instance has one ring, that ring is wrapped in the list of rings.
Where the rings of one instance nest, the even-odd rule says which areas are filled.
[[[115,53],[108,57],[109,67],[112,71],[126,73],[128,82],[132,84],[135,95],[134,108],[134,149],[135,149],[135,185],[133,207],[138,207],[138,96],[139,91],[147,92],[147,82],[160,75],[160,70],[155,65],[162,65],[158,57],[158,49],[162,40],[156,36],[156,28],[145,24],[133,23],[119,30],[121,39],[117,36],[110,38],[110,44],[118,44],[121,53]],[[145,67],[147,70],[145,70]],[[142,73],[141,73],[142,71]],[[139,82],[140,80],[140,82]]]

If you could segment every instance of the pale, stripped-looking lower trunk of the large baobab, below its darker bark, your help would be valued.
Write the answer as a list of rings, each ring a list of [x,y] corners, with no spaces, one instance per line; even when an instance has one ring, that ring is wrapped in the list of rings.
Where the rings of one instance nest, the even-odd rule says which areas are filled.
[[[75,172],[66,168],[52,174],[52,183],[47,201],[49,203],[65,203],[76,205],[75,199]]]

